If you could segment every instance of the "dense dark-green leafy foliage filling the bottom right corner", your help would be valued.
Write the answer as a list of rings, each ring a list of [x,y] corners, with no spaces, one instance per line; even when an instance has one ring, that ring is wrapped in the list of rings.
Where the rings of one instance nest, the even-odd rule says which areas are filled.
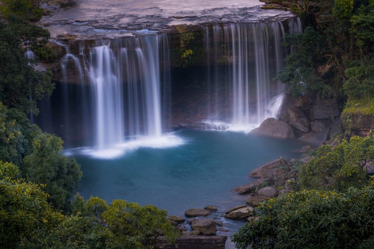
[[[346,193],[302,190],[270,199],[262,217],[233,237],[240,249],[371,248],[374,187]]]

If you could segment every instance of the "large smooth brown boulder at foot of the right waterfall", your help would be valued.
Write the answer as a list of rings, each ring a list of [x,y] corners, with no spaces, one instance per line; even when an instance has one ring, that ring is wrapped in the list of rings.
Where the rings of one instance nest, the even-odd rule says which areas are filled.
[[[294,139],[295,134],[291,125],[284,121],[279,121],[274,118],[268,118],[262,122],[260,127],[253,129],[252,134],[277,138],[277,139]]]

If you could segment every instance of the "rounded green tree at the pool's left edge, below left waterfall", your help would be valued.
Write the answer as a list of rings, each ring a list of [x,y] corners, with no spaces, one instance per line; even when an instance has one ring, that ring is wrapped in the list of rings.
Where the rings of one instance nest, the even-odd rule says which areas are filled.
[[[24,158],[23,172],[33,182],[45,183],[45,191],[57,208],[66,208],[82,172],[74,158],[61,155],[63,141],[40,133],[33,141],[32,152]]]

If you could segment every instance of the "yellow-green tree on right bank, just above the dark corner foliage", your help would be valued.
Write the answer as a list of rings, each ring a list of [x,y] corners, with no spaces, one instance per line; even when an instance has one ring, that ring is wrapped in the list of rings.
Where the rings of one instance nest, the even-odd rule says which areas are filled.
[[[301,166],[302,187],[344,191],[366,184],[367,162],[374,159],[373,137],[352,137],[332,148],[321,145],[317,156]]]

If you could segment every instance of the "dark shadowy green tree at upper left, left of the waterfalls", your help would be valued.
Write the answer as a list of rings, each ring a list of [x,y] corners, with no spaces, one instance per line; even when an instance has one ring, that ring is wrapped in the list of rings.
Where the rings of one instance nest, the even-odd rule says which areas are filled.
[[[0,102],[4,105],[37,114],[37,100],[52,94],[51,71],[36,71],[36,61],[25,59],[20,49],[27,42],[36,52],[46,50],[49,36],[48,31],[17,17],[0,21]]]

